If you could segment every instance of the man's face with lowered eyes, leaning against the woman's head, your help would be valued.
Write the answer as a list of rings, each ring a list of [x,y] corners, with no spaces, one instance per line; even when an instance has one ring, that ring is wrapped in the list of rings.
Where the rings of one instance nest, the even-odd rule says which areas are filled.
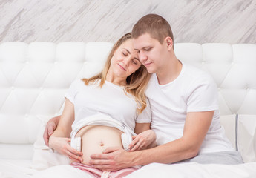
[[[148,33],[134,39],[134,49],[137,50],[140,62],[145,65],[148,73],[157,73],[164,65],[166,53],[164,44],[165,42],[160,44],[157,39],[151,38]]]

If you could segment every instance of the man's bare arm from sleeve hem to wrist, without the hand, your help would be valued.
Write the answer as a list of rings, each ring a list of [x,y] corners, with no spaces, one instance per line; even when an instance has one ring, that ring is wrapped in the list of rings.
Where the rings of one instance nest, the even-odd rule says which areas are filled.
[[[211,125],[214,111],[188,113],[183,137],[138,153],[135,162],[146,165],[151,162],[171,163],[197,156],[203,139]],[[144,159],[142,159],[144,157]]]

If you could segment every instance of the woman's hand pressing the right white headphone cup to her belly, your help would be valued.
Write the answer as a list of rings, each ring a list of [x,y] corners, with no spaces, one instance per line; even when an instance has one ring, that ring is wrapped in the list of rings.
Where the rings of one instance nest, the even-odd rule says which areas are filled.
[[[140,151],[156,146],[156,134],[152,130],[143,131],[137,136],[133,136],[133,139],[129,145],[130,151]]]

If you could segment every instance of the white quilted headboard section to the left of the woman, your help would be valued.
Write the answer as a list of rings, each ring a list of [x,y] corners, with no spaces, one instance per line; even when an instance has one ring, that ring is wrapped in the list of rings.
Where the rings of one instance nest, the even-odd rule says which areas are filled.
[[[31,159],[40,119],[60,113],[65,91],[74,79],[99,73],[112,45],[107,42],[1,44],[1,159]],[[19,153],[6,154],[11,152]]]

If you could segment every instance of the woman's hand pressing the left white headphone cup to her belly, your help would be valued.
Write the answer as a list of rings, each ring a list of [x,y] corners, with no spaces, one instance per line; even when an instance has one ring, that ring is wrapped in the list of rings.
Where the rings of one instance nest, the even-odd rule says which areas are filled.
[[[50,136],[49,147],[58,151],[59,154],[68,156],[73,162],[82,162],[82,152],[76,151],[76,149],[72,148],[69,145],[70,141],[71,139],[69,138]]]

